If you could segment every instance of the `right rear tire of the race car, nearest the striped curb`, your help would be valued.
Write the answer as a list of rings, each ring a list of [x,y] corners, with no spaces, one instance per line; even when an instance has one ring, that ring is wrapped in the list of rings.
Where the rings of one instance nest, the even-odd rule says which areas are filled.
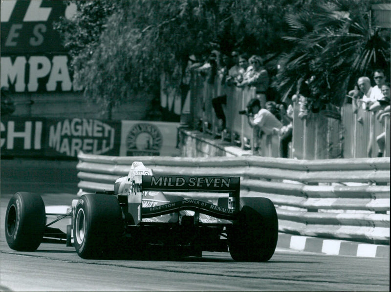
[[[242,198],[238,220],[227,228],[228,247],[236,261],[268,261],[277,246],[278,218],[267,198]]]

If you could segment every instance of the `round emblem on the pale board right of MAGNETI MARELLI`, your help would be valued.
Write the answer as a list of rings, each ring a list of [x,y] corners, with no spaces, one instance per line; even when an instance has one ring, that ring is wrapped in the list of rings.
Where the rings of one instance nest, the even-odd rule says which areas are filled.
[[[126,138],[127,156],[160,155],[163,136],[153,124],[134,125]]]

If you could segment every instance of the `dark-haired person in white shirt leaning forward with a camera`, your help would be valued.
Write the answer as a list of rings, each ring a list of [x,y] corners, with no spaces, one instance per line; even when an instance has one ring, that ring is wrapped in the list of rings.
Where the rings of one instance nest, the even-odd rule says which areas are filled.
[[[281,122],[270,111],[261,108],[261,102],[258,98],[250,100],[247,108],[249,110],[247,121],[251,127],[258,127],[266,135],[276,134],[281,129]],[[258,135],[258,138],[261,138],[261,135]],[[259,143],[257,141],[254,152],[257,152],[258,149]]]

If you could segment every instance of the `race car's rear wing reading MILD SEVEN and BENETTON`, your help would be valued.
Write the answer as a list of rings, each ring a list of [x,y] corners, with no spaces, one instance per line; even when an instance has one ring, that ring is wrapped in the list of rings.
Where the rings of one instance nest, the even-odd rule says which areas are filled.
[[[137,224],[142,218],[173,213],[180,209],[200,211],[221,219],[231,219],[239,212],[240,178],[228,176],[151,176],[135,175],[128,196],[128,208]],[[165,205],[142,208],[142,193],[145,191],[197,191],[228,193],[227,206],[216,206],[197,199],[170,202]],[[134,216],[137,214],[137,216]],[[137,219],[137,220],[136,220]]]

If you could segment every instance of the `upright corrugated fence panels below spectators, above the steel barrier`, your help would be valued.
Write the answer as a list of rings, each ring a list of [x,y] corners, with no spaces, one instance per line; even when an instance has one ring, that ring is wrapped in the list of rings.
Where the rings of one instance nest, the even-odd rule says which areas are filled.
[[[229,135],[222,140],[253,150],[256,139],[255,130],[247,123],[247,117],[239,114],[247,103],[256,97],[254,87],[239,88],[221,85],[218,77],[214,84],[208,83],[199,74],[193,74],[190,84],[190,122],[189,126],[212,137],[217,134],[217,118],[212,106],[212,99],[227,95],[227,104],[223,106],[226,116],[226,129]],[[376,112],[358,108],[345,103],[339,108],[340,119],[330,117],[327,111],[310,113],[305,119],[299,117],[299,104],[294,102],[293,136],[290,143],[289,158],[329,159],[329,158],[364,158],[369,157],[369,143],[372,146],[370,157],[376,157],[378,146],[376,137],[385,131],[385,153],[390,156],[390,114],[378,120]],[[279,136],[263,135],[259,155],[279,157]]]

